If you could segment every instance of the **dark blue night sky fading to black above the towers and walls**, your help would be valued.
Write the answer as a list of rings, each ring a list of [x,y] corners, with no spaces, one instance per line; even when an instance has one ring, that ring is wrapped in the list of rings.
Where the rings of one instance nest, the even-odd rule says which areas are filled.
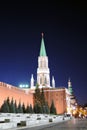
[[[0,4],[0,81],[30,84],[44,42],[51,79],[67,87],[71,79],[80,104],[87,103],[87,10],[85,3],[41,1]]]

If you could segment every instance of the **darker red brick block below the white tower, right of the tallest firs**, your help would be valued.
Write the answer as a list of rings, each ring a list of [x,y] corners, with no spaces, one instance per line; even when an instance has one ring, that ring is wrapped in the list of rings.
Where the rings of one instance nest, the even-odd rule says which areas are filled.
[[[66,111],[65,89],[45,89],[44,92],[48,105],[51,106],[53,100],[57,114],[63,114]]]

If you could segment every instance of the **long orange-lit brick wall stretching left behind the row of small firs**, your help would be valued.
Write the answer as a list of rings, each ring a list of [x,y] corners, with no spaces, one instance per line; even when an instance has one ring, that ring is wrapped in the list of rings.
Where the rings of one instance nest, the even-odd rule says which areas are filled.
[[[0,106],[3,104],[3,101],[7,99],[7,97],[10,98],[10,100],[13,98],[14,101],[16,100],[17,104],[19,101],[21,104],[31,104],[33,106],[33,94],[32,93],[26,93],[25,91],[13,87],[11,85],[5,84],[0,82]]]

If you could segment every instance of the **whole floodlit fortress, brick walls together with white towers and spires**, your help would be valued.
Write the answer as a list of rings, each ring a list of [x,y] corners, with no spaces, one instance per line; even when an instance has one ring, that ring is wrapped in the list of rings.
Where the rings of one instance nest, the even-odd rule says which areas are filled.
[[[52,86],[50,85],[50,69],[48,67],[48,57],[46,54],[44,38],[42,35],[40,55],[38,57],[38,68],[37,68],[37,83],[39,88],[44,89],[45,99],[48,102],[49,107],[52,101],[56,107],[57,114],[68,113],[75,109],[77,104],[76,99],[73,95],[71,81],[68,81],[68,88],[56,87],[54,76],[52,77]],[[9,97],[17,104],[32,105],[34,106],[34,92],[36,86],[34,85],[34,77],[31,75],[30,88],[21,88],[12,86],[3,82],[0,82],[0,106],[4,100]]]

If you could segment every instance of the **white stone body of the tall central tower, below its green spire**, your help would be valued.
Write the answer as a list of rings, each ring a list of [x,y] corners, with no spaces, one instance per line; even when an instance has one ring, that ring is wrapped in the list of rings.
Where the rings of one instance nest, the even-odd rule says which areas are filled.
[[[47,56],[38,57],[37,83],[38,85],[50,87],[50,70]]]

